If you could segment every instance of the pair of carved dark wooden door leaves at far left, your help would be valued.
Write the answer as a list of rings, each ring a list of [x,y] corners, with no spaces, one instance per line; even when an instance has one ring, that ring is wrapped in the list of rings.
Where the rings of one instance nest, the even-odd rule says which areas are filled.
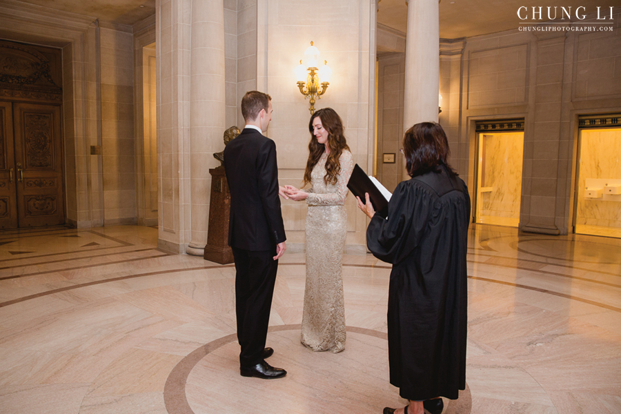
[[[64,224],[60,107],[0,102],[0,228]]]

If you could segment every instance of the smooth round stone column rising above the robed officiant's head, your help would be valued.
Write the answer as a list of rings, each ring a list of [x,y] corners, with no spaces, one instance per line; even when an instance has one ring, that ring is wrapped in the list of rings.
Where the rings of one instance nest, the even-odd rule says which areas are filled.
[[[404,131],[424,121],[437,122],[440,89],[440,23],[437,0],[410,0],[406,38]],[[407,175],[404,178],[408,179]]]

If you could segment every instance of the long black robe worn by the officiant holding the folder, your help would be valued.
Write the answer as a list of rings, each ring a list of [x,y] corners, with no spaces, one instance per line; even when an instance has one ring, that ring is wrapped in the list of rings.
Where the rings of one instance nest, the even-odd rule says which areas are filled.
[[[368,249],[392,263],[388,289],[391,384],[408,400],[456,399],[466,386],[466,245],[470,197],[447,172],[402,181],[366,230]]]

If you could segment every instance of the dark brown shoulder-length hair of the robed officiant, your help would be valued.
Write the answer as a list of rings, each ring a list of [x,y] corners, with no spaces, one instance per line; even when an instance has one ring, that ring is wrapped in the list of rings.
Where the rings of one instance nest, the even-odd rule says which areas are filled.
[[[449,165],[449,140],[446,139],[442,126],[435,122],[421,122],[406,130],[403,154],[410,177],[429,171],[440,172],[442,165],[446,166],[449,175],[457,175]]]

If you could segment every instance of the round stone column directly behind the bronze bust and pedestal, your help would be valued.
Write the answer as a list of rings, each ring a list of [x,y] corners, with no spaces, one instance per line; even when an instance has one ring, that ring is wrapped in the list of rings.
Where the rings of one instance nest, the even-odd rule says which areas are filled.
[[[190,50],[190,244],[186,253],[204,254],[207,244],[209,168],[226,129],[224,92],[224,2],[194,0]]]

